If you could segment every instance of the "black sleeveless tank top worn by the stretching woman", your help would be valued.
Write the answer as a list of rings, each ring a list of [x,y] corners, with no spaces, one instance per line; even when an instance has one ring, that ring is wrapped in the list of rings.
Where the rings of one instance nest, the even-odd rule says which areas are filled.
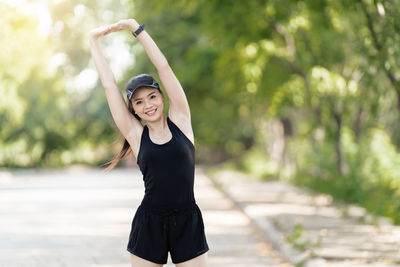
[[[193,143],[167,117],[172,138],[164,144],[150,140],[144,126],[137,163],[143,174],[145,194],[141,205],[171,208],[195,203]]]

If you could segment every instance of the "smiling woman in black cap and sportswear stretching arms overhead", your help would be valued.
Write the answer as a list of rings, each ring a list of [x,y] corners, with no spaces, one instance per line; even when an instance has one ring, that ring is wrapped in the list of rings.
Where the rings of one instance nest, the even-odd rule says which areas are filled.
[[[90,49],[105,89],[112,117],[125,137],[112,169],[132,152],[143,173],[145,195],[132,220],[127,250],[132,266],[162,266],[168,251],[177,267],[206,266],[209,250],[194,185],[194,135],[185,92],[166,58],[134,19],[121,20],[90,32]],[[127,104],[98,44],[100,36],[128,29],[140,41],[157,69],[169,98],[147,74],[132,77],[125,88]],[[142,121],[145,123],[142,125]]]

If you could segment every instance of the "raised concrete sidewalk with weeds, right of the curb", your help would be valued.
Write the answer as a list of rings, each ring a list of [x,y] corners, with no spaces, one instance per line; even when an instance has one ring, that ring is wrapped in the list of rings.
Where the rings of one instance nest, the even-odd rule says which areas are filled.
[[[361,207],[334,204],[280,181],[242,173],[210,172],[216,185],[251,218],[292,264],[303,266],[400,266],[400,227]]]

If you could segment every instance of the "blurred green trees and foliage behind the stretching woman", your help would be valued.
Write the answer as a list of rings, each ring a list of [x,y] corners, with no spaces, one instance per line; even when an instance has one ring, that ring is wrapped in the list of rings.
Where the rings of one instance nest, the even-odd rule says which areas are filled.
[[[2,167],[116,155],[123,139],[87,37],[135,18],[186,91],[198,163],[290,181],[400,224],[399,1],[0,0],[0,11]],[[138,73],[158,78],[130,32],[100,42],[121,91]]]

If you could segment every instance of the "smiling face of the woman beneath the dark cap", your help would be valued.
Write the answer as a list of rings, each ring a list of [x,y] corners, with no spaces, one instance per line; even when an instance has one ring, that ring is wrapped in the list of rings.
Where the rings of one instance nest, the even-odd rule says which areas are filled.
[[[156,121],[163,115],[164,97],[156,88],[136,90],[131,101],[135,113],[145,121]]]

